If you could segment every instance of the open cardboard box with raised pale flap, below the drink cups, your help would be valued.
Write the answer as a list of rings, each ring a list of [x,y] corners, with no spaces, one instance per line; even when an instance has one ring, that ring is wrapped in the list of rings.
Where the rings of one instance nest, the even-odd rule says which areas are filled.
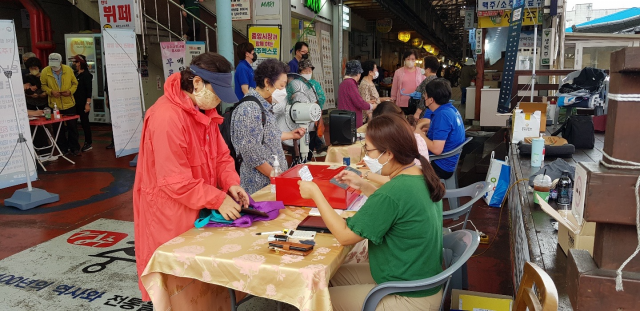
[[[537,194],[534,194],[537,195]],[[570,249],[586,250],[593,256],[596,223],[578,224],[571,211],[556,211],[551,205],[538,198],[542,210],[558,221],[558,244],[567,255]]]

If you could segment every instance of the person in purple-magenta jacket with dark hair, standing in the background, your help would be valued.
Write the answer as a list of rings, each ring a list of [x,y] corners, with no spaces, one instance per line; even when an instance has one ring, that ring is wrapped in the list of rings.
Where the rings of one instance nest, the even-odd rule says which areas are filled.
[[[338,109],[356,113],[356,126],[362,126],[362,111],[373,110],[378,106],[374,101],[366,102],[358,91],[358,81],[362,75],[360,61],[350,60],[345,68],[345,77],[338,87]]]

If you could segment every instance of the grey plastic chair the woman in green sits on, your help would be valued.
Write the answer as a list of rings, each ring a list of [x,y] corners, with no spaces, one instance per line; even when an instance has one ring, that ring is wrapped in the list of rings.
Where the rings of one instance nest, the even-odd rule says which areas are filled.
[[[362,304],[362,311],[374,311],[382,298],[396,293],[414,292],[434,288],[444,284],[440,310],[444,304],[451,275],[469,260],[480,244],[480,237],[475,231],[459,230],[443,236],[444,271],[426,279],[417,281],[395,281],[378,284],[371,289]],[[429,254],[425,254],[429,256]]]

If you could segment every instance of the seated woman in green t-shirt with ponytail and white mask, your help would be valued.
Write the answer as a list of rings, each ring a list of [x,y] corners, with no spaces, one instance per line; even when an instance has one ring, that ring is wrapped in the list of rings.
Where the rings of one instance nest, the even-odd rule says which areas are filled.
[[[369,262],[340,267],[329,289],[334,310],[359,310],[376,284],[414,281],[442,272],[442,197],[445,189],[420,156],[413,130],[400,117],[382,115],[369,122],[365,162],[372,172],[389,176],[376,188],[356,174],[337,177],[369,197],[343,219],[313,182],[300,182],[303,198],[313,199],[322,219],[342,245],[369,239]],[[420,159],[422,168],[415,165]],[[442,289],[389,295],[377,310],[438,310]]]

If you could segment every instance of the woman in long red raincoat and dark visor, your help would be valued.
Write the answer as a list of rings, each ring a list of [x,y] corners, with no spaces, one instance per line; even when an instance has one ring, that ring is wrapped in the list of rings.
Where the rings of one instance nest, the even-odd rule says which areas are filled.
[[[249,204],[214,109],[221,101],[238,101],[231,69],[218,54],[195,57],[167,79],[164,96],[145,115],[133,186],[138,285],[145,301],[150,297],[139,277],[158,246],[193,228],[202,208],[236,219],[236,202]]]

